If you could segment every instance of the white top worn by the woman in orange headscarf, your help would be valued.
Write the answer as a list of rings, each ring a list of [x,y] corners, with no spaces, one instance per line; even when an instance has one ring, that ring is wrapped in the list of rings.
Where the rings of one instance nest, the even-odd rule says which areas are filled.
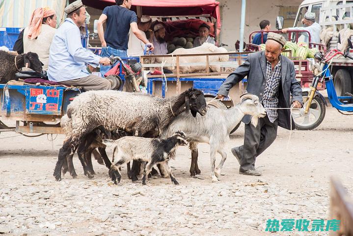
[[[39,60],[44,64],[43,70],[48,70],[49,49],[52,44],[55,31],[55,28],[42,24],[42,28],[37,38],[28,38],[28,27],[23,33],[23,52],[38,54]]]

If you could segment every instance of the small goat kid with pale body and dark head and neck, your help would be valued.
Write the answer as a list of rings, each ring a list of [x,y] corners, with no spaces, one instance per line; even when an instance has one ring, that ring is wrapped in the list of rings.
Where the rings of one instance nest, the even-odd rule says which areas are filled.
[[[121,174],[119,167],[132,160],[141,160],[147,162],[144,167],[142,184],[146,184],[146,177],[151,172],[155,164],[162,164],[164,170],[169,175],[172,183],[179,184],[173,177],[170,167],[168,166],[170,153],[175,152],[178,146],[187,146],[186,134],[182,131],[175,132],[167,139],[157,138],[142,138],[134,136],[125,136],[118,140],[104,139],[103,144],[106,146],[113,146],[113,159],[109,169],[109,176],[111,180],[117,184],[116,180],[120,182]]]

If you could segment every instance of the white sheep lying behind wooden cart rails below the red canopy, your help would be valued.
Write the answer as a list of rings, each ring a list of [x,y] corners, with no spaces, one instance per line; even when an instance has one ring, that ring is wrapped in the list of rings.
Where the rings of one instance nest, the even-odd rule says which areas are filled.
[[[227,50],[223,47],[217,47],[212,43],[204,43],[199,47],[185,49],[185,48],[178,48],[174,52],[168,55],[188,55],[188,54],[203,54],[203,53],[226,53]],[[217,56],[209,56],[209,63],[217,62],[217,61],[227,61],[229,59],[228,55],[217,55]],[[162,63],[165,61],[167,64],[174,64],[176,66],[176,57],[157,57],[156,62]],[[204,65],[183,65],[180,66],[180,73],[196,73],[196,72],[205,72],[206,71],[206,56],[199,56],[199,57],[180,57],[179,63],[194,63],[194,62],[204,62]],[[166,66],[166,69],[172,70],[173,73],[176,73],[176,67]],[[219,65],[211,65],[211,70],[213,72],[219,72],[220,66]]]

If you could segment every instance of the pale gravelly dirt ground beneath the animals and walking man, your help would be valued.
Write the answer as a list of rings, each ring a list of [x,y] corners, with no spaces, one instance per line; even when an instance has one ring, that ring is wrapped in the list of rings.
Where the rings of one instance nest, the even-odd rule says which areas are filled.
[[[269,233],[268,219],[329,219],[329,181],[338,177],[353,193],[353,117],[332,107],[312,131],[279,128],[256,161],[261,177],[239,175],[230,149],[243,143],[244,125],[231,136],[220,181],[210,175],[209,148],[199,145],[204,179],[189,175],[190,151],[182,147],[171,161],[180,185],[169,178],[132,183],[126,168],[118,185],[105,166],[93,162],[88,179],[78,158],[77,179],[57,182],[54,165],[63,136],[26,138],[0,134],[0,232],[8,235],[328,235],[328,232]],[[15,137],[14,137],[15,136]],[[53,137],[55,138],[55,136]],[[48,140],[49,139],[49,140]],[[108,152],[111,157],[111,150]],[[217,163],[220,156],[217,156]],[[279,229],[280,230],[280,229]],[[309,227],[311,230],[311,226]]]

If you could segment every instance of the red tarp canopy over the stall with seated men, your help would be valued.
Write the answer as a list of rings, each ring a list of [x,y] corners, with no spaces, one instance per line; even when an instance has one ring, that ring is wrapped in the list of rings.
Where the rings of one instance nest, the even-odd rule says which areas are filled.
[[[83,4],[103,10],[115,5],[115,0],[82,0]],[[142,7],[143,15],[150,16],[192,16],[210,14],[217,19],[220,29],[219,2],[215,0],[133,0],[131,10]]]

